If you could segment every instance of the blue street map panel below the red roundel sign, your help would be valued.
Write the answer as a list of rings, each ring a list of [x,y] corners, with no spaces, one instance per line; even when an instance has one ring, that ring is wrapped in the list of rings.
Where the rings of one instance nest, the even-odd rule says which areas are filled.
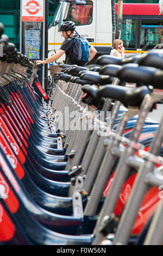
[[[40,31],[26,29],[25,31],[25,55],[29,59],[40,59]]]

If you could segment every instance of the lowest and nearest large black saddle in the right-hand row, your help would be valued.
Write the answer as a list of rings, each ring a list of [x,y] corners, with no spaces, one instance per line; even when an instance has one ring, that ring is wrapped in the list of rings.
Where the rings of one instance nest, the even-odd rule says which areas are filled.
[[[151,90],[146,86],[130,88],[109,84],[97,90],[96,99],[99,101],[102,96],[105,96],[121,101],[126,107],[140,107],[144,97],[150,92]]]

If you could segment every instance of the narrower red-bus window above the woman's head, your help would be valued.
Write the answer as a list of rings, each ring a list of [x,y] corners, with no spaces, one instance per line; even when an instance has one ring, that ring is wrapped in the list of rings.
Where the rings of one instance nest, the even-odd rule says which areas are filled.
[[[136,48],[136,19],[123,19],[122,41],[126,49]]]

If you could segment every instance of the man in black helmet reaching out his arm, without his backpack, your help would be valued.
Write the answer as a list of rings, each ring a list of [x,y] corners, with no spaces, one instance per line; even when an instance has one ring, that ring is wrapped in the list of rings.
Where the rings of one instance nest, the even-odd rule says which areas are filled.
[[[62,36],[64,36],[65,38],[65,40],[61,44],[59,51],[46,60],[36,60],[36,64],[37,63],[47,64],[47,63],[55,62],[55,60],[59,59],[62,56],[62,54],[65,53],[66,54],[65,64],[73,65],[74,63],[72,63],[68,55],[70,56],[71,51],[73,49],[73,38],[75,36],[75,29],[76,29],[76,26],[74,22],[72,21],[64,22],[64,24],[62,24],[58,30],[58,32],[62,32]],[[90,62],[90,60],[93,59],[93,57],[96,55],[97,51],[90,44],[89,44],[89,51],[90,51],[90,58],[89,58],[89,62]]]

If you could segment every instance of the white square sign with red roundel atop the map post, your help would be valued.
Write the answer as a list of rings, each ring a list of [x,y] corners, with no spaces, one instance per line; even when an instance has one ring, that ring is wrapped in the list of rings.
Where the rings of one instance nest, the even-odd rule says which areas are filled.
[[[22,21],[43,21],[43,0],[22,0]]]

